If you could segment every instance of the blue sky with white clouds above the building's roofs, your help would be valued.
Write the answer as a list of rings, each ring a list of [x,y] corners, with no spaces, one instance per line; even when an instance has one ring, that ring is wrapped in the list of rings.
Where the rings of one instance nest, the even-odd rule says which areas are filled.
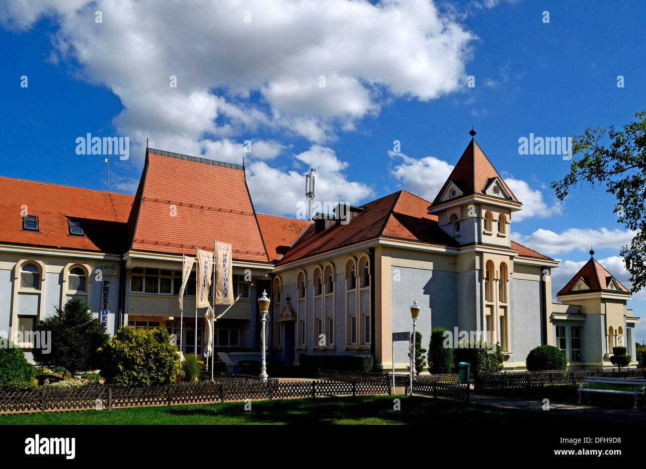
[[[557,202],[549,185],[569,163],[521,155],[518,140],[620,126],[644,107],[643,2],[57,3],[0,6],[3,176],[105,189],[104,156],[76,154],[76,138],[127,136],[130,158],[112,160],[110,189],[134,193],[150,138],[168,151],[245,156],[256,209],[296,216],[310,162],[321,202],[402,188],[433,198],[474,125],[525,203],[514,239],[563,263],[554,293],[590,244],[629,283],[616,201],[583,186]],[[645,300],[634,296],[635,315]],[[646,340],[646,323],[638,331]]]

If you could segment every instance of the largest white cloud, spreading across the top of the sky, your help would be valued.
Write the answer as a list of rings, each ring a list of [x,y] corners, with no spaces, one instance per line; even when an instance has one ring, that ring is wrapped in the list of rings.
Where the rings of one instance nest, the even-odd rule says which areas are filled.
[[[66,59],[74,74],[121,99],[121,134],[142,146],[146,137],[156,147],[184,141],[175,150],[185,153],[202,140],[245,140],[242,132],[260,127],[331,141],[393,97],[427,101],[459,90],[475,39],[425,0],[0,6],[5,28],[27,30],[42,17],[57,25],[49,60]]]

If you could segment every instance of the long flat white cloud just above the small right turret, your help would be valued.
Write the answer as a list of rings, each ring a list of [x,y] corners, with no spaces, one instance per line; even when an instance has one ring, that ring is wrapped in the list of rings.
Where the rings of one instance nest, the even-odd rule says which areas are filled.
[[[554,233],[541,228],[529,236],[513,233],[512,239],[536,249],[539,253],[553,256],[571,251],[589,251],[590,246],[594,249],[609,248],[619,251],[633,236],[633,232],[621,229],[570,228],[561,233]]]

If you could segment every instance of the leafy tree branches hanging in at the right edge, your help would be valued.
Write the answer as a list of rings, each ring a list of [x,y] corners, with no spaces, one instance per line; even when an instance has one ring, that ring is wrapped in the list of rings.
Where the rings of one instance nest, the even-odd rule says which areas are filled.
[[[630,245],[621,248],[620,255],[630,273],[632,291],[646,286],[646,110],[635,114],[636,120],[623,130],[589,127],[572,139],[570,172],[562,180],[552,182],[559,200],[579,183],[605,185],[614,195],[614,213],[618,223],[636,231]],[[605,138],[610,141],[603,143]]]

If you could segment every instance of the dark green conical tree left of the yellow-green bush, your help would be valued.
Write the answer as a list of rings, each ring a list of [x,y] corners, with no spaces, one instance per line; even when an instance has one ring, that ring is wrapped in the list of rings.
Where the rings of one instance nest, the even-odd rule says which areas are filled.
[[[71,298],[63,309],[56,308],[56,315],[37,323],[36,331],[52,333],[50,353],[42,348],[34,348],[34,360],[39,366],[62,366],[72,376],[76,376],[78,371],[98,367],[98,350],[107,344],[109,335],[103,330],[101,321],[93,318],[88,310],[85,301]]]

